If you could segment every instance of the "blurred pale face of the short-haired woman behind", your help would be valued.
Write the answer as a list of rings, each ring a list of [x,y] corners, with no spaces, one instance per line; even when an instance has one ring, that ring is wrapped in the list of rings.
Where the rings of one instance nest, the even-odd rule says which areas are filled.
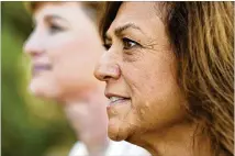
[[[63,99],[97,82],[93,67],[102,53],[96,26],[79,2],[44,2],[33,13],[34,31],[24,51],[32,62],[31,91]]]

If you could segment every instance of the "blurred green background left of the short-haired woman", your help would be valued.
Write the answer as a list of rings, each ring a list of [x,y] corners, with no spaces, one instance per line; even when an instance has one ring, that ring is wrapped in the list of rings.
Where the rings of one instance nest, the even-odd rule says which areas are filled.
[[[1,2],[1,155],[66,156],[76,136],[61,108],[27,93],[31,31],[23,2]]]

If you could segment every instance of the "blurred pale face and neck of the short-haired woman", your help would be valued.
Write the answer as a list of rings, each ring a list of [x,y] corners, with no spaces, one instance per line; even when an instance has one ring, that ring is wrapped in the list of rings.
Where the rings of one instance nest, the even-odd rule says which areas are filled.
[[[32,62],[30,91],[64,103],[90,155],[102,155],[108,116],[103,86],[93,77],[93,67],[103,53],[94,23],[79,2],[45,2],[33,13],[33,21],[34,31],[24,45]],[[34,70],[45,65],[49,68]]]

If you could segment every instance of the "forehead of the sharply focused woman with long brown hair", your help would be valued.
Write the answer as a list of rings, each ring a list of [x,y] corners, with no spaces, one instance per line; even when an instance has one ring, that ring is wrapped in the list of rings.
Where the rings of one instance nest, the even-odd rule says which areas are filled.
[[[144,34],[150,35],[153,31],[163,30],[165,25],[161,19],[157,15],[154,2],[124,2],[111,23],[107,34],[115,34],[116,30],[122,30],[120,27],[130,26],[136,31]]]

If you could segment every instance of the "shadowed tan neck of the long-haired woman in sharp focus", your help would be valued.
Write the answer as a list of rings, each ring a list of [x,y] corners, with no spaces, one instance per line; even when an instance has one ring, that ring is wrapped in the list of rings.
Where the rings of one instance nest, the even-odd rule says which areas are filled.
[[[210,156],[210,142],[198,132],[198,124],[177,123],[161,131],[146,132],[130,142],[143,146],[153,156]]]

